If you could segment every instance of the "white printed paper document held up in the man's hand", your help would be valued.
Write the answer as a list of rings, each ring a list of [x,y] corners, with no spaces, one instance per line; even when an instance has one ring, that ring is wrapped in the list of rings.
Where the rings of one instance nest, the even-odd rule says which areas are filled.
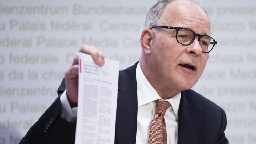
[[[79,53],[78,110],[75,144],[113,144],[119,61],[105,59],[99,67]]]

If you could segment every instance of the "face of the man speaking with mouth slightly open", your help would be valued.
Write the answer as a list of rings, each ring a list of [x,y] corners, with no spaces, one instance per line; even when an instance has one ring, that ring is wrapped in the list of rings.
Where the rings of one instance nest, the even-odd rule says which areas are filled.
[[[161,19],[164,26],[185,27],[197,34],[210,36],[210,22],[203,10],[187,1],[166,6]],[[153,28],[155,29],[155,28]],[[164,88],[190,89],[205,69],[209,53],[203,53],[198,37],[188,46],[176,41],[176,30],[157,28],[151,40],[151,70]]]

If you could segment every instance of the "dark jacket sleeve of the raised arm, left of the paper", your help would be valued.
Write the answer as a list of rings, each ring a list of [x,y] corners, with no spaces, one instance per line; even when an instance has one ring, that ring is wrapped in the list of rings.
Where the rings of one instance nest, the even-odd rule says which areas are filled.
[[[60,96],[65,89],[64,78],[58,88],[58,97],[29,129],[20,144],[74,143],[76,122],[67,122],[60,116]]]

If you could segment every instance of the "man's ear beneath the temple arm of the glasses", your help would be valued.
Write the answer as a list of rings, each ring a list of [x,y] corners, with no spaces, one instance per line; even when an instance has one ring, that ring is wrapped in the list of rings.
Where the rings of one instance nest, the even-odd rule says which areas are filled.
[[[146,28],[141,33],[141,46],[145,54],[149,55],[151,53],[151,42],[153,38],[153,33],[150,29]]]

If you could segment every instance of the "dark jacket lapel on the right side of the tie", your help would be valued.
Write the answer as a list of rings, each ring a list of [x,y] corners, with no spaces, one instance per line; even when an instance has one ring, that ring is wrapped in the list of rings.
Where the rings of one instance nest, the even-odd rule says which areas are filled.
[[[196,107],[196,101],[193,95],[190,95],[190,90],[182,91],[181,102],[178,111],[179,129],[178,129],[178,144],[198,144],[200,133],[200,110]]]

